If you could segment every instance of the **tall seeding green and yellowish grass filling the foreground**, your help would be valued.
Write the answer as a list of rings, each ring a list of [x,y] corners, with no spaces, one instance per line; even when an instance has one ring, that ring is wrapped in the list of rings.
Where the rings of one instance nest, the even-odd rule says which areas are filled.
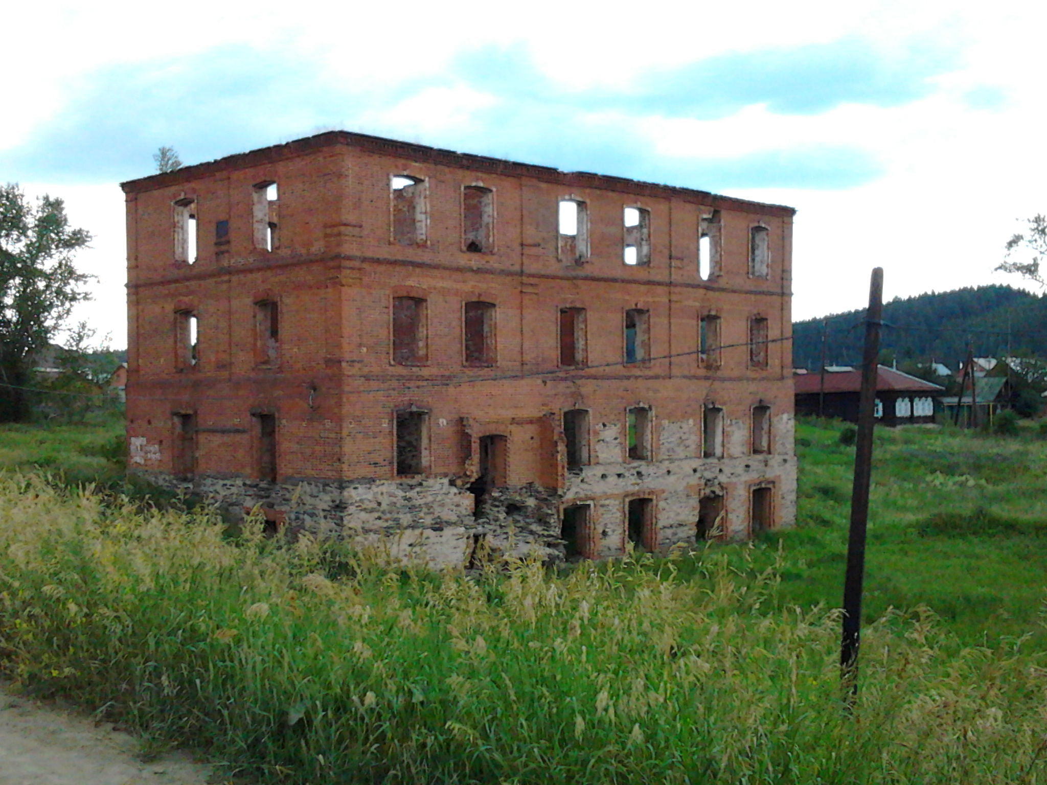
[[[765,550],[467,577],[244,531],[0,479],[3,670],[265,782],[1047,778],[1020,641],[889,615],[848,713],[837,612],[777,601]]]

